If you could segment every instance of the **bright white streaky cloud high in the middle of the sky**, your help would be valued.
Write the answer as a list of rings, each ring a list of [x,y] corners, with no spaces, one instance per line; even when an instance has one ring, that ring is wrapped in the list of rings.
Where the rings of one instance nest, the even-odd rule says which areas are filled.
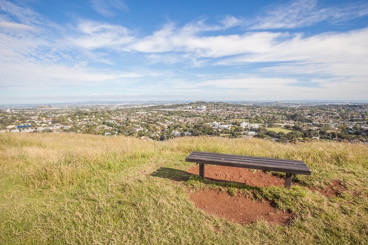
[[[250,32],[243,35],[203,35],[209,30],[219,30],[200,25],[187,25],[177,28],[168,24],[151,36],[135,40],[130,50],[144,53],[190,52],[198,57],[221,57],[243,53],[263,53],[271,46],[270,42],[282,36],[281,33]]]

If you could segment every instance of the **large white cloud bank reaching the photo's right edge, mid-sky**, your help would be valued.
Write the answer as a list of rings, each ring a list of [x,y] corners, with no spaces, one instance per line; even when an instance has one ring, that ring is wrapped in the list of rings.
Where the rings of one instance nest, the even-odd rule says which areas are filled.
[[[262,55],[251,53],[224,59],[219,63],[239,65],[252,62],[278,62],[281,65],[272,66],[271,69],[290,74],[315,73],[366,77],[367,39],[368,29],[323,33],[311,37],[294,35],[282,41],[271,40],[270,48]]]

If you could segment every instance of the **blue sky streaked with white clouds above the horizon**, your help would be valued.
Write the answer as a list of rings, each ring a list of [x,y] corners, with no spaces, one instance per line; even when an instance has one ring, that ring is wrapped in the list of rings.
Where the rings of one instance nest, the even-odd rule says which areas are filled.
[[[367,1],[0,0],[0,104],[368,100]]]

